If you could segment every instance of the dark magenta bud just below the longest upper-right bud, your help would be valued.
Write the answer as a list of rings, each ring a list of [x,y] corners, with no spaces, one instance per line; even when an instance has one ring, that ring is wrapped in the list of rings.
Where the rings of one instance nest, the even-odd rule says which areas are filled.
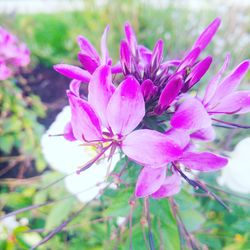
[[[194,84],[196,84],[200,79],[206,74],[208,71],[210,65],[212,63],[212,57],[208,56],[199,63],[197,63],[191,73],[188,75],[186,78],[186,82],[189,81],[188,83],[188,89],[192,88]]]

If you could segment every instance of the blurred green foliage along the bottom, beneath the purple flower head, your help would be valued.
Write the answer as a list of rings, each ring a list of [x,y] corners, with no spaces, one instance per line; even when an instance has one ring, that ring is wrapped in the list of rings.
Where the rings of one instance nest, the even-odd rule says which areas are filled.
[[[114,173],[120,172],[126,160],[123,158],[117,163]],[[53,172],[34,179],[28,186],[20,184],[12,190],[5,186],[6,191],[0,194],[0,198],[1,205],[7,211],[48,201],[55,202],[16,215],[19,225],[13,231],[6,232],[8,237],[5,240],[0,237],[1,249],[30,249],[79,209],[80,214],[72,219],[67,227],[38,249],[125,250],[129,249],[130,244],[133,249],[148,249],[149,228],[144,213],[144,202],[142,199],[132,202],[133,186],[127,185],[127,177],[131,176],[132,179],[132,175],[137,175],[139,168],[138,165],[129,163],[122,175],[123,182],[118,188],[106,188],[99,199],[93,200],[83,209],[74,195],[67,194],[63,182],[45,188],[61,178]],[[114,182],[112,178],[110,181]],[[206,181],[217,186],[212,175]],[[222,199],[229,202],[232,209],[229,213],[210,197],[199,196],[202,193],[188,185],[185,185],[184,189],[175,196],[175,201],[188,232],[199,240],[199,249],[203,249],[205,245],[208,249],[248,249],[250,210],[247,198],[241,199],[233,193],[225,194],[219,191]],[[150,199],[149,204],[155,249],[189,249],[183,235],[179,237],[179,226],[168,199]],[[23,225],[24,218],[28,218],[28,222]]]

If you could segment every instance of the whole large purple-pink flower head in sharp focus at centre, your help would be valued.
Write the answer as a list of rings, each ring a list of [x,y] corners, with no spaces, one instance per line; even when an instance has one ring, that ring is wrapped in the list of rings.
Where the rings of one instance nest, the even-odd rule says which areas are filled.
[[[211,56],[200,59],[200,55],[219,25],[220,19],[216,18],[180,60],[164,59],[162,40],[153,50],[138,44],[128,23],[117,64],[112,63],[106,45],[109,27],[101,38],[101,56],[86,38],[79,36],[82,67],[54,67],[72,79],[67,91],[72,117],[64,137],[98,150],[78,173],[91,167],[106,151],[111,158],[121,150],[142,166],[135,195],[159,199],[178,193],[182,178],[197,185],[188,179],[185,170],[215,171],[227,165],[225,157],[200,152],[196,144],[197,140],[215,139],[213,125],[240,127],[214,117],[250,111],[250,91],[237,90],[250,61],[242,62],[221,80],[229,63],[227,55],[203,96],[193,96],[189,91],[212,63]],[[82,84],[88,84],[88,96],[80,94]]]

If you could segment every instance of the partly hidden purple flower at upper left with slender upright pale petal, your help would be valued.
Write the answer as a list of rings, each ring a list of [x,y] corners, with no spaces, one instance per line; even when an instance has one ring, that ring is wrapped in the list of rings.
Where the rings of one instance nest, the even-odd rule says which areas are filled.
[[[75,80],[79,80],[84,83],[89,83],[91,74],[101,65],[112,65],[112,60],[109,57],[107,49],[107,34],[109,26],[107,26],[102,34],[101,38],[101,54],[100,57],[94,46],[89,40],[83,36],[78,37],[78,45],[80,52],[78,53],[78,59],[83,67],[72,66],[68,64],[54,65],[54,69],[60,74]],[[121,72],[120,64],[112,66],[112,73]]]

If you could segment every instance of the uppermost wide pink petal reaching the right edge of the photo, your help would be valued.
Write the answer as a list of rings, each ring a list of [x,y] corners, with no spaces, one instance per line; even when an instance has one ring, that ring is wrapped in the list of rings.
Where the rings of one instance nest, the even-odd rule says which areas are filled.
[[[247,74],[250,68],[250,61],[244,61],[238,65],[218,86],[214,97],[212,98],[212,103],[218,103],[226,95],[231,94],[235,89],[238,88],[241,80]]]

